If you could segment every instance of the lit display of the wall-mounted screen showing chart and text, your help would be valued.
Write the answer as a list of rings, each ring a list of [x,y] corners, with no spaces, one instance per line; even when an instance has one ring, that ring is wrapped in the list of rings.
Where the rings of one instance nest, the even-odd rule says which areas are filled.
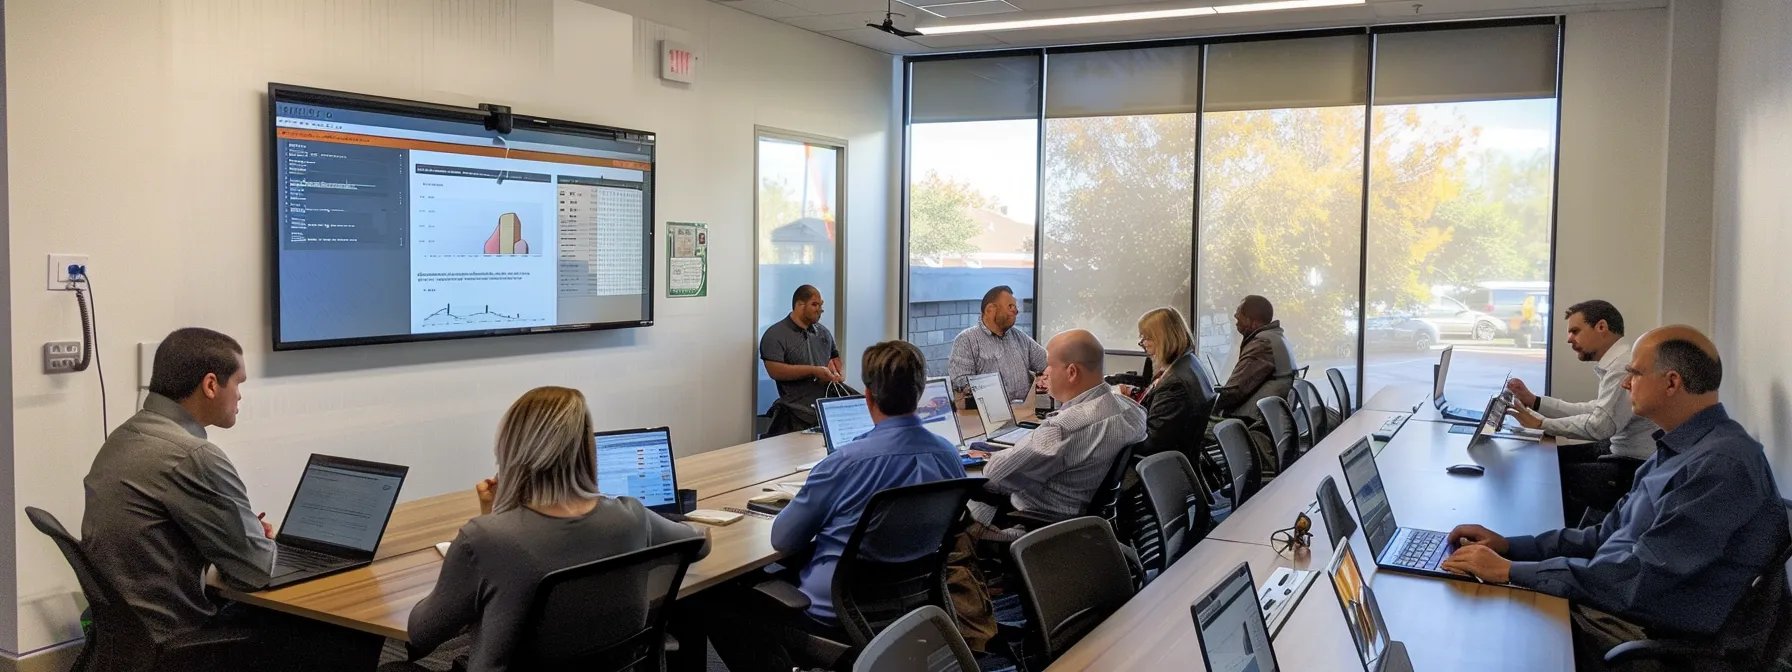
[[[647,319],[650,136],[276,109],[278,342]]]

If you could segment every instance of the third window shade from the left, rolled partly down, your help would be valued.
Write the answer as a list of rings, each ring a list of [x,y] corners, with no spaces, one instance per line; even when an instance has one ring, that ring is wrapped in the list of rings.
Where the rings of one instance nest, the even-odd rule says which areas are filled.
[[[1360,106],[1369,36],[1210,45],[1206,77],[1206,111]]]

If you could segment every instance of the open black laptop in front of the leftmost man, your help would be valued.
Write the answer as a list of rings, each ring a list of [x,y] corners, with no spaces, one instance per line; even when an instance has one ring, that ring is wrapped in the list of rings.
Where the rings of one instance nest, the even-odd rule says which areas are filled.
[[[267,588],[373,563],[410,468],[312,455],[274,536]]]

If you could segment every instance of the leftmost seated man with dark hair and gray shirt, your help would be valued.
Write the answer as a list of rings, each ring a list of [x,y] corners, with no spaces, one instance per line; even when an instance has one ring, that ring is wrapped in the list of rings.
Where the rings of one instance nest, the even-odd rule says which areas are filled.
[[[206,426],[237,425],[242,346],[185,328],[156,348],[143,410],[118,425],[88,471],[81,538],[156,642],[204,627],[219,613],[206,564],[244,588],[267,584],[272,527],[249,507],[228,455]]]

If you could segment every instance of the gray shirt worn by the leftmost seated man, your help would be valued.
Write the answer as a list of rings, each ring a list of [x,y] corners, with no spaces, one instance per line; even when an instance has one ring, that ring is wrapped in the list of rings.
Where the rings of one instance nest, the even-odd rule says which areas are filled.
[[[267,584],[274,539],[262,532],[229,457],[174,400],[151,392],[143,410],[106,437],[82,486],[81,545],[156,642],[217,615],[206,564],[244,588]]]

